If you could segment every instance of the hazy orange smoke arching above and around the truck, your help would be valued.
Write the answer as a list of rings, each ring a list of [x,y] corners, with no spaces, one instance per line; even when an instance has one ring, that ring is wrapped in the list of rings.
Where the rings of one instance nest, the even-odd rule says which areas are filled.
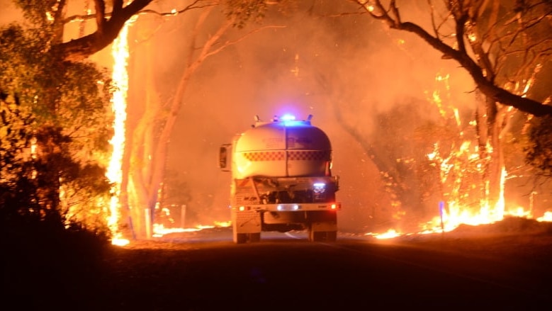
[[[473,106],[467,93],[473,90],[471,79],[421,39],[388,30],[366,14],[342,14],[358,12],[348,1],[300,3],[293,13],[269,11],[261,25],[232,29],[223,40],[236,40],[254,28],[285,26],[266,27],[209,57],[188,83],[167,169],[188,185],[191,202],[186,204],[197,222],[230,218],[230,173],[217,167],[218,147],[247,130],[254,115],[266,120],[291,112],[298,118],[314,115],[313,125],[332,140],[333,173],[341,180],[339,227],[355,232],[385,227],[393,216],[390,198],[376,165],[344,124],[364,139],[385,135],[374,117],[412,98],[427,101],[439,73],[451,75],[457,106]],[[164,101],[174,96],[181,78],[198,13],[164,19],[150,39],[159,49],[145,61],[154,62]],[[197,47],[223,18],[213,11]],[[134,47],[136,54],[140,48]]]

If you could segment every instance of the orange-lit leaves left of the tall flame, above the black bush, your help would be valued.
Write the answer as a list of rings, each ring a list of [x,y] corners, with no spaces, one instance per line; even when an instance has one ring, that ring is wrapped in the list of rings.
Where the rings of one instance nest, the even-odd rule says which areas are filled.
[[[63,226],[78,221],[106,230],[107,210],[98,201],[110,190],[103,164],[111,82],[91,62],[64,61],[52,36],[47,28],[0,28],[1,162],[9,170],[0,183],[12,193],[0,203],[9,215],[32,211]]]

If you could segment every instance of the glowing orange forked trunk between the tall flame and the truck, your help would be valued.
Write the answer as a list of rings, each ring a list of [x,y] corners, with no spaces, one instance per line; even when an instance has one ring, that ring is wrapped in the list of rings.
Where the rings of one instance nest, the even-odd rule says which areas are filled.
[[[205,17],[208,16],[211,9],[206,9],[203,16],[199,18],[194,34],[197,34],[198,30],[202,28]],[[232,23],[232,20],[225,21],[218,31],[209,38],[208,42],[203,45],[199,55],[195,54],[196,40],[195,35],[193,36],[194,40],[191,40],[189,44],[188,63],[184,72],[182,72],[175,95],[169,104],[169,113],[164,110],[162,103],[158,100],[158,92],[153,81],[154,68],[152,62],[147,61],[152,59],[153,47],[151,43],[147,43],[146,61],[137,62],[138,66],[147,64],[145,73],[136,74],[137,77],[144,77],[140,81],[145,81],[145,94],[137,97],[145,98],[145,102],[143,113],[138,117],[137,126],[132,131],[133,145],[130,152],[128,193],[130,208],[134,210],[131,214],[133,215],[135,232],[140,237],[144,237],[147,230],[151,229],[145,227],[147,224],[144,222],[144,212],[146,209],[152,212],[158,204],[159,190],[162,188],[162,182],[164,181],[169,140],[181,109],[182,98],[184,98],[188,81],[207,57],[222,50],[220,47],[215,49],[213,46],[218,43],[220,37],[232,26]],[[223,47],[227,45],[230,45],[230,43],[223,45]]]

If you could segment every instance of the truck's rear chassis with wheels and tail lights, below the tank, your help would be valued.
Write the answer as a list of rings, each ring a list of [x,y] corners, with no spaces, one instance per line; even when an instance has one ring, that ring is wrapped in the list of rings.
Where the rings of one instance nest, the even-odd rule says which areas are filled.
[[[334,242],[341,209],[335,203],[337,189],[335,176],[235,179],[230,206],[234,242],[259,242],[261,232],[291,230],[308,230],[312,242]]]

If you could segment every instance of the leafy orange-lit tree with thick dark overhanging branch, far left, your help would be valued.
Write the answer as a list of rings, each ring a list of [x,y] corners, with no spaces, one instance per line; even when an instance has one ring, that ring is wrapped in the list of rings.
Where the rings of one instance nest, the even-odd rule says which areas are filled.
[[[16,144],[13,132],[21,132],[23,120],[3,119],[12,136],[2,135],[2,145],[8,148],[6,154],[14,154],[2,160],[3,186],[28,181],[28,186],[12,189],[13,198],[3,198],[3,208],[27,209],[38,219],[75,220],[103,230],[106,212],[98,198],[107,196],[110,188],[103,162],[111,135],[111,83],[105,71],[85,59],[111,43],[125,21],[150,1],[124,7],[123,1],[114,1],[110,14],[104,1],[95,1],[96,32],[70,41],[64,41],[64,27],[84,17],[67,18],[67,1],[14,2],[30,26],[1,29],[0,86],[18,98],[17,110],[7,106],[3,111],[18,118],[18,111],[25,111],[33,122],[25,123],[26,136],[20,135]],[[14,159],[26,162],[11,163]],[[26,170],[4,174],[9,167]],[[30,186],[35,195],[28,196],[27,203],[18,200],[18,193],[30,191]],[[19,203],[7,206],[8,202]]]

